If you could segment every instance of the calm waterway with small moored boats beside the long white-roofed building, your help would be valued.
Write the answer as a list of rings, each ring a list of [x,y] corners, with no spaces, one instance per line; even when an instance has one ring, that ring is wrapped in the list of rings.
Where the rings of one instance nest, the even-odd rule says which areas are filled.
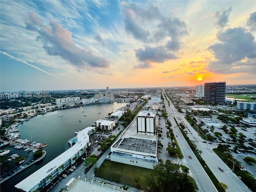
[[[48,144],[43,148],[46,151],[46,156],[40,164],[33,164],[2,183],[1,192],[16,192],[17,189],[14,187],[16,184],[70,148],[68,140],[75,136],[74,132],[91,126],[96,120],[102,119],[126,105],[126,103],[117,102],[113,104],[99,103],[57,110],[21,122],[18,126],[20,138]],[[84,112],[82,112],[83,110]],[[99,112],[100,114],[98,114]],[[60,114],[63,116],[59,116]],[[83,116],[84,114],[86,116]]]

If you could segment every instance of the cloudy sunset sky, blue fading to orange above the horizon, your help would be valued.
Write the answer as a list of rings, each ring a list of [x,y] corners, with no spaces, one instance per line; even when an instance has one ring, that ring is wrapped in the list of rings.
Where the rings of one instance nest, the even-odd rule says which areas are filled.
[[[0,2],[0,91],[256,84],[256,1]]]

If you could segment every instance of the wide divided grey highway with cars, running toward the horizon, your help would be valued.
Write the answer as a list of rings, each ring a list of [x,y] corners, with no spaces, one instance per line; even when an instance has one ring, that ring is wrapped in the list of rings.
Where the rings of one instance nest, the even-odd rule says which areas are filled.
[[[201,154],[202,158],[204,159],[204,161],[206,162],[206,164],[208,165],[208,167],[210,168],[212,173],[215,175],[215,177],[218,179],[218,181],[223,182],[226,185],[228,185],[228,189],[226,190],[227,192],[242,192],[242,191],[243,192],[245,192],[245,191],[250,192],[251,191],[244,184],[244,182],[242,182],[242,180],[240,180],[238,178],[238,176],[236,176],[236,174],[234,174],[232,172],[232,170],[230,170],[230,168],[214,152],[212,152],[212,149],[216,148],[217,146],[209,145],[208,143],[203,143],[202,138],[200,136],[198,136],[196,130],[194,130],[190,126],[190,124],[188,122],[186,122],[186,120],[184,118],[184,114],[179,113],[174,108],[174,106],[171,102],[170,102],[170,106],[168,106],[168,104],[166,102],[166,111],[169,114],[169,120],[171,121],[172,126],[176,125],[176,122],[173,119],[173,116],[175,116],[175,117],[180,117],[180,119],[185,123],[185,125],[188,128],[190,128],[190,131],[192,132],[192,134],[188,133],[188,137],[190,138],[190,140],[198,140],[199,141],[199,142],[196,142],[196,144],[197,144],[198,150],[202,151],[202,154]],[[177,129],[177,128],[173,128],[174,134],[177,134],[177,133],[175,133],[175,131],[176,131],[175,129]],[[196,137],[196,139],[194,137]],[[184,156],[184,160],[183,159],[181,160],[182,164],[183,163],[184,163],[184,165],[187,164],[187,162],[189,160],[188,155],[192,156],[191,160],[194,160],[196,158],[194,156],[194,153],[192,152],[192,150],[188,146],[186,140],[184,139],[184,137],[180,133],[180,131],[178,133],[177,142],[178,142],[178,145],[180,146],[180,149],[181,149],[182,154]],[[208,147],[210,149],[208,149]],[[195,168],[195,166],[196,166],[196,168]],[[205,182],[204,177],[207,177],[208,179],[209,179],[209,177],[206,173],[205,173],[206,175],[200,174],[200,173],[198,174],[199,171],[197,169],[199,167],[200,166],[197,167],[197,162],[193,162],[193,161],[191,161],[189,163],[189,166],[188,166],[188,168],[190,168],[191,173],[194,175],[195,180],[197,180],[200,188],[201,189],[206,189],[205,187],[208,187],[208,185],[204,184],[204,182]],[[221,167],[224,170],[224,172],[221,172],[218,167]],[[203,173],[203,171],[200,171],[200,172]],[[202,177],[203,175],[204,175],[204,177]],[[203,190],[203,191],[205,191],[205,190]],[[206,190],[206,191],[210,191],[210,190]]]

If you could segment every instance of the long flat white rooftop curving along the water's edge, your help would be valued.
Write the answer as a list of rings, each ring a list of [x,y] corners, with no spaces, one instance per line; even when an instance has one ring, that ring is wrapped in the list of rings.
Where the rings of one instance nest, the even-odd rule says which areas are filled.
[[[74,156],[76,152],[86,146],[87,143],[90,142],[88,132],[92,129],[94,128],[87,127],[81,130],[77,135],[77,142],[76,144],[74,144],[74,146],[72,146],[71,148],[60,154],[58,157],[50,161],[48,164],[16,184],[15,187],[18,189],[21,188],[22,190],[29,192],[32,188],[38,185],[40,181],[44,180],[44,178],[50,175],[51,172],[54,172],[64,162],[72,158],[72,156]]]

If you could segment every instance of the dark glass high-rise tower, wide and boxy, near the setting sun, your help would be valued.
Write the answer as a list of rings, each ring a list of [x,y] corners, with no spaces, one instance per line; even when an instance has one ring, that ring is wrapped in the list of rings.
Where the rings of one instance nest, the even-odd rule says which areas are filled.
[[[204,102],[225,104],[226,82],[209,82],[204,84]]]

